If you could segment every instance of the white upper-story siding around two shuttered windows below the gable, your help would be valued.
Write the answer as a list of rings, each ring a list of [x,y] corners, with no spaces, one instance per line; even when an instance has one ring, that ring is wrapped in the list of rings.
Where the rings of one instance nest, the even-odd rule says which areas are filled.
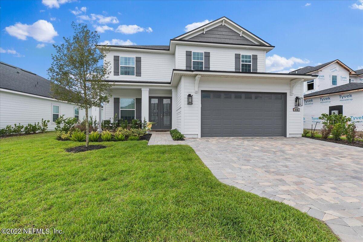
[[[265,51],[220,47],[178,45],[175,50],[178,55],[177,69],[185,69],[185,51],[210,52],[210,70],[234,71],[234,54],[257,55],[257,71],[265,72]]]

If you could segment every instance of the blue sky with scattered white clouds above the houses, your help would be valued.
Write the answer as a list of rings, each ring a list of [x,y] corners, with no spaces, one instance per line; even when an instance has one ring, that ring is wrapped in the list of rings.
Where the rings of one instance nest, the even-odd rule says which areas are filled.
[[[267,54],[267,71],[335,59],[354,70],[363,68],[363,0],[1,0],[0,7],[0,60],[46,78],[52,44],[72,36],[72,21],[101,30],[101,42],[168,45],[186,28],[221,16],[276,46]]]

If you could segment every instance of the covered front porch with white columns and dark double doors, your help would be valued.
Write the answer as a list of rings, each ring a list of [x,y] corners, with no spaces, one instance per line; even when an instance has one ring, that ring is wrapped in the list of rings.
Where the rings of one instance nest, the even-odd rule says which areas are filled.
[[[139,119],[154,122],[153,130],[176,128],[176,89],[171,86],[113,86],[107,90],[110,102],[103,108],[103,117],[111,122]]]

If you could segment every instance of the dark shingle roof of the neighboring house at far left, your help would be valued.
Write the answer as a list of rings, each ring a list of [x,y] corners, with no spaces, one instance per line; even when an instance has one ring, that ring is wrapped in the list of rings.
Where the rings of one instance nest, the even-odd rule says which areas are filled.
[[[0,88],[52,98],[50,81],[4,62],[0,62]]]

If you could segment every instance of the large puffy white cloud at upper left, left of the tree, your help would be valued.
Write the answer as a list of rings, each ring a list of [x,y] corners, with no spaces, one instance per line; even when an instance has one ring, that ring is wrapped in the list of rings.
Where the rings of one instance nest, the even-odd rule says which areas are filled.
[[[17,22],[15,25],[5,27],[6,32],[20,40],[32,37],[39,42],[53,43],[53,38],[58,36],[53,25],[46,20],[38,20],[32,25]]]

